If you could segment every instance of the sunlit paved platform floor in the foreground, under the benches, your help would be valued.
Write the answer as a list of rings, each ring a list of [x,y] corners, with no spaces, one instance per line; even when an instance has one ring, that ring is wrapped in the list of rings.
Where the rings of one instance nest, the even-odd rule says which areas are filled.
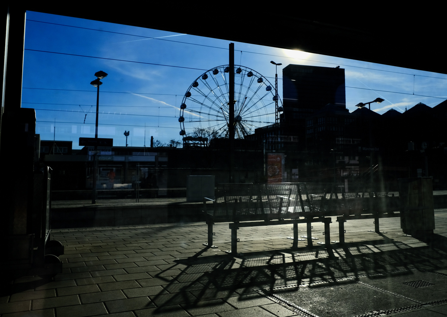
[[[1,317],[447,316],[447,209],[430,238],[405,236],[399,218],[345,224],[332,251],[299,242],[291,225],[241,228],[231,256],[228,223],[216,249],[204,223],[53,230],[63,273],[21,277],[2,290]],[[338,239],[333,217],[331,240]],[[324,241],[314,223],[315,242]],[[299,225],[305,235],[305,225]]]

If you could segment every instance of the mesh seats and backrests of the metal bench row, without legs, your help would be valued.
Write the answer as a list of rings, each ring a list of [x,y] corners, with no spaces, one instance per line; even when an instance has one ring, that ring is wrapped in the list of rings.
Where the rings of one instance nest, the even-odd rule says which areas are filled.
[[[396,186],[324,183],[218,184],[213,218],[217,221],[338,216],[399,210]]]

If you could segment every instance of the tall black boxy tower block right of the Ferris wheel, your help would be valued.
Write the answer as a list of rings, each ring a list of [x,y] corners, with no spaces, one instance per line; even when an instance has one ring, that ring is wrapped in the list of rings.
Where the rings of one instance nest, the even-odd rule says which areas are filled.
[[[326,104],[346,108],[345,70],[290,64],[283,68],[283,114],[280,122],[306,128],[306,117]]]

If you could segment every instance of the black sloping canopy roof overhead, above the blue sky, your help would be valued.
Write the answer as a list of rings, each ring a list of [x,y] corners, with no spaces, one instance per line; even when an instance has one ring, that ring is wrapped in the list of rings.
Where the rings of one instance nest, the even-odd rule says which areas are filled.
[[[152,3],[141,8],[135,4],[67,7],[36,1],[26,9],[447,74],[441,55],[445,26],[440,13],[425,14],[422,8],[414,12],[401,8],[390,12],[387,8],[381,13],[353,7],[318,15],[306,14],[312,11],[298,6],[260,7],[253,4],[244,12],[236,8],[216,11],[209,4],[201,7],[193,3],[175,7]],[[356,11],[344,18],[337,10]]]

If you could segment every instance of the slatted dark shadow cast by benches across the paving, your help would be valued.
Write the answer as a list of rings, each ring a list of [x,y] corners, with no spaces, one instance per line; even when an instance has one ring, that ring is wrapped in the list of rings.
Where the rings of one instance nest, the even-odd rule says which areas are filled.
[[[203,307],[215,305],[215,299],[234,296],[240,301],[253,299],[246,295],[256,294],[256,290],[278,294],[281,292],[278,286],[289,286],[283,292],[290,292],[303,283],[315,283],[312,287],[356,283],[359,275],[384,278],[413,274],[414,268],[434,271],[447,264],[444,252],[447,238],[439,235],[430,238],[436,241],[436,246],[444,243],[443,248],[410,247],[380,235],[382,239],[334,244],[329,252],[323,246],[315,246],[245,252],[237,256],[204,256],[205,248],[188,259],[176,260],[164,270],[181,270],[164,285],[165,290],[175,288],[177,292],[160,292],[150,297],[159,309],[168,305],[178,308],[177,304]],[[162,278],[164,271],[154,277]],[[343,279],[347,277],[350,279]]]

